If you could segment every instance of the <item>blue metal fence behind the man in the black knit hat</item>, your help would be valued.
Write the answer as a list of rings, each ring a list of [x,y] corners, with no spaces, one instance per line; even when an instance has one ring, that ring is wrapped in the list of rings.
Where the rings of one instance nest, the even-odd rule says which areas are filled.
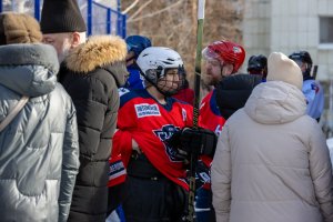
[[[40,20],[43,0],[32,0],[31,13]],[[127,36],[127,14],[121,13],[121,0],[117,0],[117,10],[105,7],[93,0],[87,1],[87,11],[81,11],[87,22],[87,33],[91,34],[118,34],[122,38]],[[13,3],[13,1],[11,1]],[[0,0],[0,12],[14,10],[13,7],[4,7]]]

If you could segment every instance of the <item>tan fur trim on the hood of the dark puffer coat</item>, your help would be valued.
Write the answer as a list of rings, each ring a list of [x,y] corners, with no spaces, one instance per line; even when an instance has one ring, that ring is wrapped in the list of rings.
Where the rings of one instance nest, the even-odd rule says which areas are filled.
[[[65,59],[67,68],[88,73],[98,67],[124,61],[128,49],[123,39],[117,36],[94,36],[74,48]]]

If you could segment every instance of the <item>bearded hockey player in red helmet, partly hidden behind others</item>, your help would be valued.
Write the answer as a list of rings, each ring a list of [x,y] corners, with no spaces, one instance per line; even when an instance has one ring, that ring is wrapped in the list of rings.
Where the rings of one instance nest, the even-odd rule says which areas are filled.
[[[204,74],[203,82],[206,85],[216,87],[224,78],[236,73],[245,59],[243,47],[238,43],[222,40],[209,44],[203,51]],[[216,103],[216,90],[213,89],[200,105],[200,125],[220,134],[225,119],[221,115]],[[198,175],[202,185],[198,189],[196,219],[198,221],[215,221],[212,208],[212,194],[210,190],[209,168],[211,157],[202,155],[199,160]]]

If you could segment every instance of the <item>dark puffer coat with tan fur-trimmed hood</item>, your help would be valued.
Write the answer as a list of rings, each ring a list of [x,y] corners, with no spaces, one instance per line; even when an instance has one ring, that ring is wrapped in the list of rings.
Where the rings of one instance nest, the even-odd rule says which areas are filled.
[[[92,37],[73,49],[59,81],[77,109],[80,170],[69,221],[105,221],[109,158],[119,109],[118,87],[124,84],[127,46],[118,37]]]

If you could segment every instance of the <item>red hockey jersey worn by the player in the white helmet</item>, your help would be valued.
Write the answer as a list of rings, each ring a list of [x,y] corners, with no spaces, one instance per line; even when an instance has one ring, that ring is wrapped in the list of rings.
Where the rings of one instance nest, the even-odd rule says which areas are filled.
[[[174,98],[167,98],[167,104],[160,104],[147,90],[120,89],[119,93],[118,131],[113,137],[112,157],[121,154],[127,165],[134,139],[154,168],[188,189],[183,161],[163,141],[193,124],[192,105]]]

